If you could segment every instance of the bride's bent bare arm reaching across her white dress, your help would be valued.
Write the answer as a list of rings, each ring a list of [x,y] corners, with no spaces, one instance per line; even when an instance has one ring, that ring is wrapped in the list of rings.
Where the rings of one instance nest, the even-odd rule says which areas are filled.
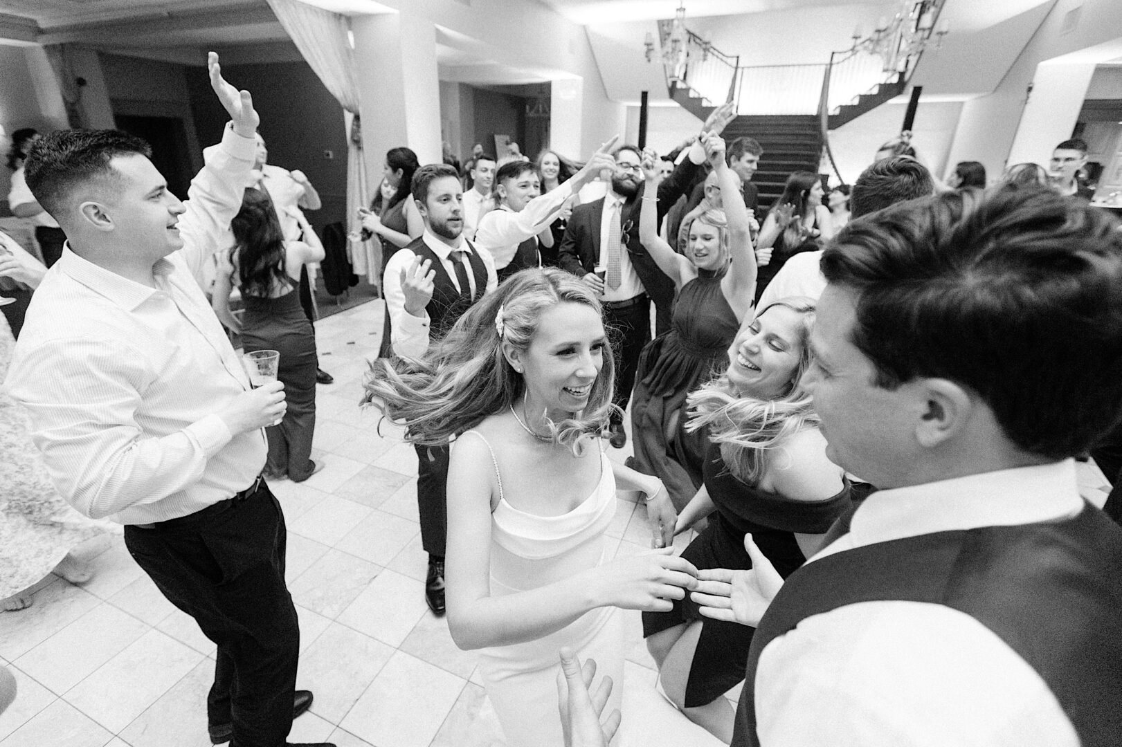
[[[598,607],[669,610],[696,583],[697,570],[670,550],[622,557],[560,581],[490,593],[491,457],[481,439],[461,436],[448,470],[448,627],[468,651],[535,640]]]

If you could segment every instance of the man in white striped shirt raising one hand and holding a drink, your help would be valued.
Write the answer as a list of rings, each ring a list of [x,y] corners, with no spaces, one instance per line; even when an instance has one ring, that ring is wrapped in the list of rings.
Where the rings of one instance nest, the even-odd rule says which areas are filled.
[[[284,516],[260,478],[284,387],[252,388],[199,286],[241,208],[258,117],[208,62],[232,122],[186,204],[125,132],[65,130],[33,148],[28,186],[70,240],[7,385],[58,492],[123,524],[136,562],[218,645],[211,740],[280,747],[312,701],[295,690]]]

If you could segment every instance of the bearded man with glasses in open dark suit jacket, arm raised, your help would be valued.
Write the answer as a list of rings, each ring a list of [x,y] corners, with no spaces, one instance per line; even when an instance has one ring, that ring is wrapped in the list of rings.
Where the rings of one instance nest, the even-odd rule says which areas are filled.
[[[607,195],[573,208],[561,239],[558,264],[600,294],[604,321],[619,333],[614,342],[617,349],[613,398],[619,411],[611,414],[610,443],[622,449],[627,443],[623,411],[631,400],[638,356],[651,339],[651,302],[654,301],[656,314],[662,320],[656,325],[661,332],[663,325],[669,328],[674,298],[673,282],[638,241],[638,202],[654,202],[661,222],[670,206],[693,183],[698,168],[705,163],[705,148],[700,137],[695,140],[688,157],[659,184],[657,196],[644,194],[646,185],[640,167],[643,154],[638,148],[620,146],[613,156],[615,167]],[[571,181],[563,182],[561,187]]]

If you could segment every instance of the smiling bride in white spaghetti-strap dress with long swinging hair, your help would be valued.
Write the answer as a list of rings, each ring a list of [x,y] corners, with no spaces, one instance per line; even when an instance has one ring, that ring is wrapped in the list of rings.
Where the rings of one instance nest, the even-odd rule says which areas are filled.
[[[456,437],[448,476],[448,622],[480,649],[509,747],[561,747],[562,646],[617,683],[614,607],[668,610],[697,570],[670,554],[674,508],[657,478],[609,460],[614,366],[595,292],[530,269],[477,302],[408,372],[373,365],[375,405],[417,443]],[[458,437],[457,437],[458,436]],[[652,553],[610,560],[616,489],[646,496]]]

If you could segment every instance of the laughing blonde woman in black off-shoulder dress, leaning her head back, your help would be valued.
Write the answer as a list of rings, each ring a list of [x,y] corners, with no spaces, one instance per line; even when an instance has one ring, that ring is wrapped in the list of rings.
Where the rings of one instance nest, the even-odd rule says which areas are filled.
[[[842,469],[799,380],[810,356],[813,302],[781,299],[745,324],[729,367],[689,398],[690,427],[706,430],[705,485],[679,514],[684,532],[714,514],[682,553],[699,570],[747,569],[744,535],[784,578],[817,552],[849,502]],[[664,693],[690,720],[729,741],[734,711],[724,693],[744,677],[753,628],[702,618],[689,598],[644,612],[643,635]]]

